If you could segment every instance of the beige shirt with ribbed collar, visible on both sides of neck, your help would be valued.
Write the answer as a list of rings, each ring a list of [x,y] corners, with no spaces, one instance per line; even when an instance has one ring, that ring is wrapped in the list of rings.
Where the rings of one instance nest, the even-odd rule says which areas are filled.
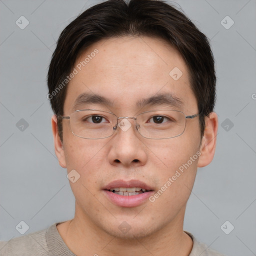
[[[56,224],[58,223],[37,232],[14,237],[9,241],[0,241],[0,256],[75,256],[61,238]],[[191,233],[185,232],[193,240],[189,256],[224,256],[206,244],[198,242]]]

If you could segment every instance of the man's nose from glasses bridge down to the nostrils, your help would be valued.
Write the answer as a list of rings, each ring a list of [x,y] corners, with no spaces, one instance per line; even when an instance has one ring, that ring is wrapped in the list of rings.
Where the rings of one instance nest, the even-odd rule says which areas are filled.
[[[135,119],[135,117],[118,117],[116,131],[109,141],[108,160],[111,164],[134,167],[146,163],[146,146],[141,141]]]

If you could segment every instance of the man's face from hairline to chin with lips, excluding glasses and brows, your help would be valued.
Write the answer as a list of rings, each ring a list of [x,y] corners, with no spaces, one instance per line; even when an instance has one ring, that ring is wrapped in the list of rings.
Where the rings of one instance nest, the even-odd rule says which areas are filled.
[[[86,57],[86,64],[79,65]],[[91,108],[117,116],[136,116],[154,109],[174,109],[185,115],[198,113],[185,62],[174,48],[157,38],[127,36],[101,40],[87,48],[75,66],[78,72],[67,87],[65,116],[74,110]],[[170,73],[174,67],[175,72]],[[103,96],[112,104],[75,104],[82,93]],[[136,104],[158,94],[171,94],[181,103],[158,100],[154,104]],[[125,131],[117,126],[112,136],[101,139],[77,137],[72,134],[68,119],[62,121],[63,144],[56,154],[67,172],[74,169],[80,175],[74,183],[70,182],[75,218],[126,238],[182,225],[201,157],[198,117],[186,120],[180,136],[166,139],[145,138],[136,129],[134,119],[121,120],[128,120],[131,126]],[[55,148],[58,143],[61,144],[55,139]],[[146,191],[130,197],[112,192],[113,187],[139,187]]]

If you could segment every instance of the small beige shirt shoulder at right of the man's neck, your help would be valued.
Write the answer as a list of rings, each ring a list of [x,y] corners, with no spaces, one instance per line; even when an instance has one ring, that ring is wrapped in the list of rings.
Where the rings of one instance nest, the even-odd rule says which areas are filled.
[[[210,248],[207,244],[199,242],[189,232],[185,231],[193,240],[193,247],[189,256],[225,256],[224,254]]]

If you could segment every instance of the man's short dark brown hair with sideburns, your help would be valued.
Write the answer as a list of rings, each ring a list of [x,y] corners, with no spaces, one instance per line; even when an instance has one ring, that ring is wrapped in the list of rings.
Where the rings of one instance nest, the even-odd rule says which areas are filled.
[[[61,82],[63,84],[77,57],[101,39],[124,35],[160,37],[179,51],[189,69],[202,136],[204,117],[213,111],[215,104],[213,55],[206,36],[190,19],[161,0],[130,0],[127,3],[107,0],[85,10],[64,28],[47,75],[48,98],[53,112],[63,114],[67,86],[56,89]],[[58,119],[58,132],[62,140],[61,119]]]

